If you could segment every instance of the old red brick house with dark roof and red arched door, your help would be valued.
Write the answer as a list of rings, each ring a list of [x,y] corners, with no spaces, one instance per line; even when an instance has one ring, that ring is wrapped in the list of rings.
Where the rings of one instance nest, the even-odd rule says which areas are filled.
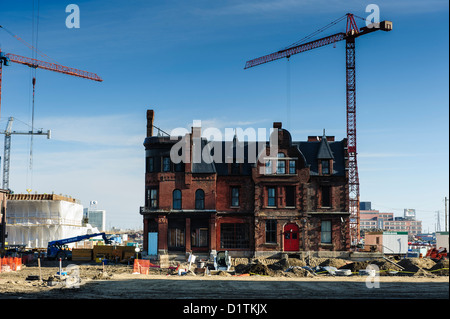
[[[274,153],[270,142],[207,141],[196,127],[176,138],[153,136],[153,117],[147,111],[140,210],[149,254],[349,250],[346,139],[295,142],[274,123]],[[198,150],[203,156],[192,160]]]

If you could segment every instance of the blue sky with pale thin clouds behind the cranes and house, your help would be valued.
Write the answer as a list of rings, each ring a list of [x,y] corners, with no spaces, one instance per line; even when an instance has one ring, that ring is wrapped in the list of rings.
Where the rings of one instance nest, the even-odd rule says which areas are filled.
[[[37,0],[34,0],[35,8]],[[80,8],[68,29],[65,8]],[[141,227],[145,113],[170,131],[204,126],[270,128],[281,121],[295,140],[346,136],[345,43],[244,70],[375,3],[392,32],[356,43],[361,200],[401,216],[415,208],[433,231],[449,194],[448,1],[39,1],[38,50],[58,63],[97,73],[98,83],[37,70],[35,136],[13,136],[10,186],[16,193],[67,194],[98,201],[107,226]],[[36,13],[36,10],[35,10]],[[33,1],[2,3],[0,25],[32,43]],[[36,22],[36,19],[35,19]],[[360,27],[364,21],[357,20]],[[321,34],[345,30],[342,22]],[[2,51],[32,52],[0,30]],[[46,60],[42,56],[37,57]],[[31,124],[30,68],[4,67],[0,129]],[[3,143],[1,143],[3,146]]]

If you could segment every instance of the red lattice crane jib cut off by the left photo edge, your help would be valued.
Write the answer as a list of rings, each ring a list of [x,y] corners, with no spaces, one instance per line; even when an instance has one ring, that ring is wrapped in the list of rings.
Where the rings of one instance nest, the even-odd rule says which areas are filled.
[[[102,82],[103,80],[95,73],[78,70],[74,68],[70,68],[67,66],[59,65],[56,63],[40,61],[32,58],[23,57],[16,54],[11,53],[3,53],[0,50],[0,111],[1,111],[1,98],[2,98],[2,66],[8,66],[10,62],[20,63],[24,65],[28,65],[31,68],[40,68],[44,70],[55,71],[59,73],[64,73],[68,75],[78,76],[80,78],[85,78],[89,80],[94,80],[98,82]],[[33,81],[34,85],[34,81]]]

